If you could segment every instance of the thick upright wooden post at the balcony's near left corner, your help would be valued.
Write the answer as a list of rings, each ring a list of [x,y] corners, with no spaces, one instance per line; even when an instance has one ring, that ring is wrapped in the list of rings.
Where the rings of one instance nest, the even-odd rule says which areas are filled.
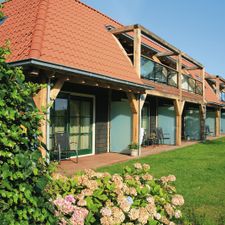
[[[141,77],[141,29],[134,28],[134,68],[138,75]]]

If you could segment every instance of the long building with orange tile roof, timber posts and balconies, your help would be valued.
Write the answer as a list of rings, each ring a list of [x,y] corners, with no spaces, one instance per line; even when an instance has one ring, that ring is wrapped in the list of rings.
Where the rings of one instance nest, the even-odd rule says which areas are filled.
[[[124,26],[79,0],[4,6],[8,62],[47,84],[34,102],[40,110],[52,104],[41,127],[49,149],[58,132],[69,133],[80,155],[126,153],[159,127],[163,143],[176,145],[225,132],[224,80],[145,27]]]

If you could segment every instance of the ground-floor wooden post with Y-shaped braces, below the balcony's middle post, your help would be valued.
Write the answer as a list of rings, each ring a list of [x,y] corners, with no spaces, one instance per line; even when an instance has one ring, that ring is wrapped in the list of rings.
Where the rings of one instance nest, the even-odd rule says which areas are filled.
[[[174,108],[176,111],[176,145],[181,145],[181,133],[182,133],[182,113],[184,109],[185,101],[174,100]]]

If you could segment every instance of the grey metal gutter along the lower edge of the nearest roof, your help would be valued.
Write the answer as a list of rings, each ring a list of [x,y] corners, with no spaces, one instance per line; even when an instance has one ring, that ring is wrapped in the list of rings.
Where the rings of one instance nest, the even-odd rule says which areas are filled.
[[[142,88],[142,89],[147,89],[147,90],[154,89],[154,87],[149,86],[149,85],[137,84],[137,83],[134,83],[131,81],[117,79],[117,78],[109,77],[107,75],[92,73],[92,72],[88,72],[85,70],[80,70],[80,69],[64,66],[61,64],[42,61],[39,59],[27,59],[27,60],[21,60],[21,61],[16,61],[16,62],[10,62],[9,65],[11,65],[11,66],[37,66],[37,67],[41,67],[41,68],[45,68],[45,69],[49,69],[49,70],[54,69],[54,70],[58,70],[58,71],[68,72],[68,73],[71,73],[71,75],[80,74],[80,75],[84,75],[89,78],[101,79],[101,80],[105,80],[105,81],[110,81],[110,82],[115,82],[115,83],[119,83],[119,84],[133,86],[136,88]]]

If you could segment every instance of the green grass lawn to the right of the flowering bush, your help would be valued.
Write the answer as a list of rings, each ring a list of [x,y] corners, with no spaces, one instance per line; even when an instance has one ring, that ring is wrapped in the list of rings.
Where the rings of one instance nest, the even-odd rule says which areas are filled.
[[[151,165],[155,177],[174,174],[178,193],[185,198],[184,213],[195,224],[225,224],[225,138],[170,152],[130,160],[98,171],[120,173],[134,162]]]

